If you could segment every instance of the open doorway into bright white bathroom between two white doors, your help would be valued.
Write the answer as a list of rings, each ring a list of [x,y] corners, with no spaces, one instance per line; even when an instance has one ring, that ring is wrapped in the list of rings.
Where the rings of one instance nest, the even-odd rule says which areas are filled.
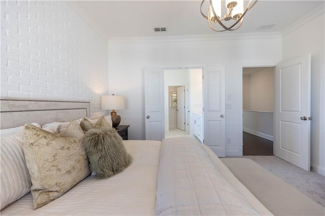
[[[194,137],[193,113],[202,113],[202,68],[164,70],[165,138]]]

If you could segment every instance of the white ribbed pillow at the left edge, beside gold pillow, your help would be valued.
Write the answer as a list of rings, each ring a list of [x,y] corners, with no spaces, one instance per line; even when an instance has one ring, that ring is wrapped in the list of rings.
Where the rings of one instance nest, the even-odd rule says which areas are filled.
[[[1,136],[1,209],[30,191],[22,150],[22,133]]]

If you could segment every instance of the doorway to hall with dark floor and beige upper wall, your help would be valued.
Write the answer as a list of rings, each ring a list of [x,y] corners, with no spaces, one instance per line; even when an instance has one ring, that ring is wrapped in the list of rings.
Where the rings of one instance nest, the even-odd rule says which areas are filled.
[[[273,155],[275,67],[243,67],[243,155]]]

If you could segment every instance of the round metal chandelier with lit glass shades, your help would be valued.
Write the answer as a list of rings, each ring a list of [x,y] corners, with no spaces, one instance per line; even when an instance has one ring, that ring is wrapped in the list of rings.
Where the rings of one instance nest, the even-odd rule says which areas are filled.
[[[244,15],[246,12],[251,9],[257,2],[257,0],[249,0],[246,9],[244,10],[244,0],[225,0],[225,8],[227,13],[221,18],[221,0],[209,0],[210,5],[208,9],[208,16],[202,12],[202,6],[205,0],[201,3],[201,14],[204,18],[208,20],[209,26],[212,30],[222,32],[222,31],[233,31],[238,29],[244,20]],[[230,21],[231,24],[227,27],[223,21]],[[214,28],[218,26],[212,23],[218,23],[222,28]]]

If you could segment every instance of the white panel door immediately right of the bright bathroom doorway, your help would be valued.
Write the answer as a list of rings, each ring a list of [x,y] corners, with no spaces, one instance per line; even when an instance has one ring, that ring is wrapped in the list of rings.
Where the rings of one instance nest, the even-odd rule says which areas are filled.
[[[224,67],[204,68],[204,144],[218,157],[225,157]]]

